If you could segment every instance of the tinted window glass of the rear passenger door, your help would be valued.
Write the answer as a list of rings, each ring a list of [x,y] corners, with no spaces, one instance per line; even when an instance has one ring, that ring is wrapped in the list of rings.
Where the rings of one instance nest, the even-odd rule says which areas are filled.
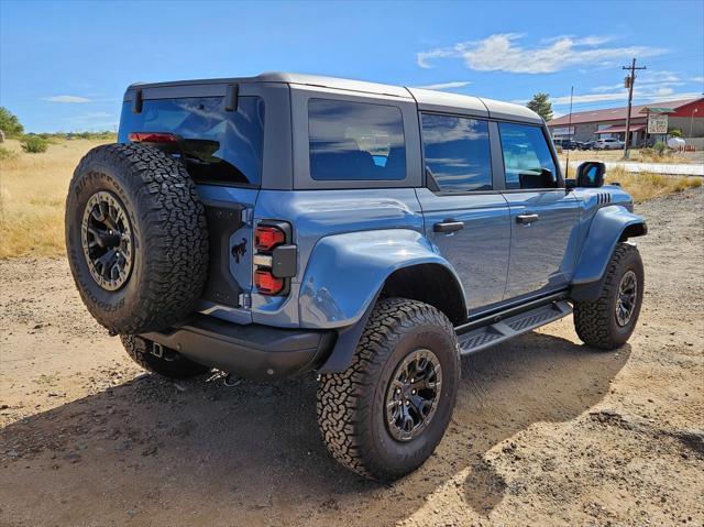
[[[463,117],[422,114],[426,171],[447,193],[492,189],[488,123]]]

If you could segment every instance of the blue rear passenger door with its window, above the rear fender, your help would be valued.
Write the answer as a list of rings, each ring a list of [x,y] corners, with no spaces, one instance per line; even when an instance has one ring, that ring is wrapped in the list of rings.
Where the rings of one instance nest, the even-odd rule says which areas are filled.
[[[417,190],[427,237],[460,276],[468,309],[502,300],[508,271],[508,205],[495,185],[483,119],[420,114],[427,188]],[[498,157],[496,156],[498,154]],[[501,164],[501,153],[494,147]]]

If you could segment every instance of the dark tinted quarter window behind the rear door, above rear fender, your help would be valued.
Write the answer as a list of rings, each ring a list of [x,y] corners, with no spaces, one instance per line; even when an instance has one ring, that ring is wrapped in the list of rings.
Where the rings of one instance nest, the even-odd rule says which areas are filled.
[[[400,109],[329,99],[308,101],[310,177],[400,180],[406,147]]]

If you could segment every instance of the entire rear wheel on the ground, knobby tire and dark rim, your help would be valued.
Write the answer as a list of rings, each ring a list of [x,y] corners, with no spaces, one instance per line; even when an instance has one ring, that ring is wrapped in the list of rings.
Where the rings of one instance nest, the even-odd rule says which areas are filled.
[[[352,364],[318,385],[318,422],[336,460],[391,481],[420,466],[450,422],[460,378],[452,323],[436,308],[381,300]]]

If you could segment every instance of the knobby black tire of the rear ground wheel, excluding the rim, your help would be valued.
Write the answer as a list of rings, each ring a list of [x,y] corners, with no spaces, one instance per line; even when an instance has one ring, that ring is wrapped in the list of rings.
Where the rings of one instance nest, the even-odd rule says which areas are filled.
[[[438,406],[428,427],[409,441],[395,439],[386,422],[389,382],[417,349],[431,350],[442,367]],[[436,308],[405,298],[378,301],[352,364],[323,374],[318,384],[318,422],[328,450],[358,474],[393,481],[420,466],[450,422],[460,380],[460,354],[452,323]]]

